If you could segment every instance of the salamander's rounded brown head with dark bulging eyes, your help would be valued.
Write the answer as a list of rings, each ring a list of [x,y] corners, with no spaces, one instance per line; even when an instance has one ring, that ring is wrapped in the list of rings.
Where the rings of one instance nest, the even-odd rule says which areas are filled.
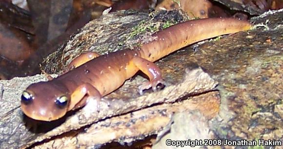
[[[30,85],[21,95],[21,109],[30,118],[42,121],[64,116],[70,103],[68,89],[53,81]]]

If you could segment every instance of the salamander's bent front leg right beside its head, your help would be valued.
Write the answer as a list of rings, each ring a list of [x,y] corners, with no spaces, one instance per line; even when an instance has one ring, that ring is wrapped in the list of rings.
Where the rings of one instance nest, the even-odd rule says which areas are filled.
[[[80,85],[74,93],[71,94],[71,102],[68,107],[68,111],[75,110],[87,104],[87,99],[95,99],[98,103],[96,107],[99,111],[99,103],[101,101],[101,93],[89,83]],[[94,107],[95,108],[95,107]]]

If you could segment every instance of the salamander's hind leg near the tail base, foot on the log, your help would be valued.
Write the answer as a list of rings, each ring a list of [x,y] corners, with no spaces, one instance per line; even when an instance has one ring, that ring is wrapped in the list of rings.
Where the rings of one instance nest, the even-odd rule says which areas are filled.
[[[133,64],[138,67],[142,73],[147,75],[149,77],[149,81],[143,82],[142,85],[139,86],[139,93],[142,94],[143,90],[147,90],[152,87],[152,90],[156,92],[157,88],[156,86],[159,83],[164,84],[164,81],[162,79],[161,70],[158,68],[158,66],[141,57],[134,57],[132,59]]]

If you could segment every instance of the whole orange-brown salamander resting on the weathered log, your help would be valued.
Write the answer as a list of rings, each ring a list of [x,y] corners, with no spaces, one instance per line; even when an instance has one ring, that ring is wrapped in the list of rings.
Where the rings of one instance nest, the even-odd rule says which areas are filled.
[[[33,119],[56,120],[66,112],[84,106],[90,98],[100,101],[139,70],[149,78],[139,87],[139,92],[149,88],[156,91],[157,84],[163,80],[153,61],[191,43],[250,27],[249,22],[237,19],[192,20],[154,34],[156,40],[135,50],[122,50],[92,60],[81,56],[85,62],[89,61],[53,80],[30,85],[22,95],[21,108]]]

